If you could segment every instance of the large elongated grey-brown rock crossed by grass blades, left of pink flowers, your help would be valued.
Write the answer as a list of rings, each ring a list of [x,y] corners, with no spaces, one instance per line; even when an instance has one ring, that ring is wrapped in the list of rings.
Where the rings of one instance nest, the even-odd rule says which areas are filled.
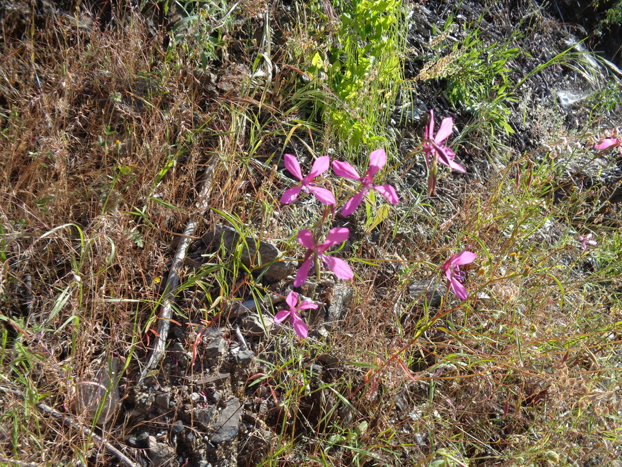
[[[218,250],[220,244],[225,247],[227,253],[242,244],[241,261],[247,268],[256,268],[261,264],[267,264],[279,259],[281,252],[276,246],[267,243],[267,241],[257,242],[252,237],[245,237],[245,241],[241,241],[242,236],[231,227],[216,224],[212,230],[203,235],[201,241],[206,250],[213,252]],[[287,262],[275,262],[266,268],[258,268],[253,271],[266,282],[279,282],[290,275],[290,264]]]

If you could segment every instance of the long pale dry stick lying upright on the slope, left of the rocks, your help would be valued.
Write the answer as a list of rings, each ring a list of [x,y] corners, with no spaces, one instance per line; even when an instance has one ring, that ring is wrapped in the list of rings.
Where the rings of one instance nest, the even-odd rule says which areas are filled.
[[[211,178],[214,174],[214,167],[216,167],[216,161],[218,157],[212,156],[205,167],[205,174],[203,175],[203,183],[201,186],[201,192],[198,195],[196,201],[196,210],[190,213],[190,219],[186,225],[182,238],[177,247],[175,257],[173,257],[173,264],[171,265],[171,271],[169,272],[169,278],[167,284],[164,286],[164,302],[162,302],[162,312],[160,313],[160,320],[158,324],[158,337],[156,338],[156,345],[153,347],[153,352],[144,365],[142,372],[140,372],[140,378],[138,378],[138,385],[141,385],[144,378],[147,377],[149,371],[156,367],[162,360],[164,355],[164,347],[167,344],[167,338],[169,336],[169,327],[171,326],[171,317],[173,315],[173,303],[175,302],[175,294],[177,286],[179,285],[179,274],[181,272],[181,266],[186,257],[186,251],[190,246],[190,241],[194,236],[196,226],[198,226],[198,219],[201,217],[207,208],[209,208],[209,193],[211,192]]]

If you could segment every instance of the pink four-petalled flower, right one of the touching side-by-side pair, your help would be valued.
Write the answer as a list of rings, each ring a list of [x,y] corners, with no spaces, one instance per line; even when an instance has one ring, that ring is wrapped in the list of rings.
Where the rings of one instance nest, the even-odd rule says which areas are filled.
[[[334,170],[337,175],[361,182],[359,191],[343,205],[343,209],[341,210],[342,216],[349,216],[352,212],[355,212],[361,201],[363,201],[363,198],[369,193],[369,190],[376,190],[391,204],[397,204],[399,202],[394,187],[391,185],[376,185],[373,183],[375,174],[377,174],[385,164],[386,152],[384,152],[384,149],[376,149],[369,155],[369,167],[362,177],[359,175],[359,172],[347,162],[332,161],[332,170]]]

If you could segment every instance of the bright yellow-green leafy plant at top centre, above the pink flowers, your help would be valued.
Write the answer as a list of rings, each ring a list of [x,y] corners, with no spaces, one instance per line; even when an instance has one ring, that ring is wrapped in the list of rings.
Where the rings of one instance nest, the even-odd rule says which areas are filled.
[[[398,0],[355,0],[349,6],[334,1],[341,12],[337,42],[326,51],[315,51],[308,71],[326,82],[337,100],[319,102],[328,121],[353,145],[372,143],[402,82],[403,49]]]

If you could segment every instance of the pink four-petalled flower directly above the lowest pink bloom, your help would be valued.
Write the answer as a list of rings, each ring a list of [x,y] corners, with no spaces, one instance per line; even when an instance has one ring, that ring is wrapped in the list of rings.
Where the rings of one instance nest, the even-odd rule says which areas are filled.
[[[326,264],[326,266],[330,268],[330,271],[339,277],[339,279],[352,279],[352,277],[354,277],[354,273],[352,273],[352,269],[350,269],[348,263],[343,261],[343,259],[324,255],[324,252],[331,246],[338,245],[343,241],[346,241],[348,239],[348,235],[350,235],[350,230],[347,228],[335,227],[328,232],[326,240],[323,241],[323,243],[315,244],[310,230],[300,230],[298,232],[298,241],[302,246],[309,248],[309,250],[305,254],[305,259],[296,273],[296,277],[294,277],[294,287],[301,286],[305,280],[307,280],[311,264],[313,264],[316,257],[321,262]]]

